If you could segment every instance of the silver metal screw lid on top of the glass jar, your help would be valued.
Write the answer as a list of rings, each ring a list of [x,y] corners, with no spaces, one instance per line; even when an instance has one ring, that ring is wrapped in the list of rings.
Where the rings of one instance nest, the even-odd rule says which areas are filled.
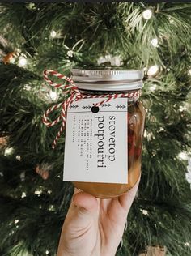
[[[143,87],[143,70],[72,69],[72,79],[79,89],[95,91],[137,90]]]

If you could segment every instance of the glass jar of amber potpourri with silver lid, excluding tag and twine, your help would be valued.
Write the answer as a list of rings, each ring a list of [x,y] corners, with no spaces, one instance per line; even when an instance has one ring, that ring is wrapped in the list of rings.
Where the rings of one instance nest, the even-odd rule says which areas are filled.
[[[72,70],[74,83],[83,94],[108,94],[135,92],[143,87],[142,70]],[[141,174],[142,137],[146,111],[138,98],[128,99],[128,182],[98,183],[73,182],[74,186],[96,196],[114,198],[131,189]],[[117,170],[116,170],[117,171]]]

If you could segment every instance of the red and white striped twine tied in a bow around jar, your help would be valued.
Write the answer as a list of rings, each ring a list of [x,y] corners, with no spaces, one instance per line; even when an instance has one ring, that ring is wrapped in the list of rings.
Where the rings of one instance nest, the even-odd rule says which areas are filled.
[[[48,127],[55,126],[55,125],[57,125],[58,122],[62,121],[62,126],[61,126],[60,130],[58,131],[56,138],[53,141],[53,145],[52,145],[53,149],[56,147],[57,140],[61,137],[61,134],[62,134],[63,130],[65,129],[66,111],[67,111],[68,107],[74,101],[78,101],[81,99],[87,99],[87,98],[105,98],[104,100],[101,100],[100,102],[94,104],[94,106],[98,107],[100,105],[103,105],[105,102],[108,102],[108,101],[116,99],[116,98],[127,97],[127,98],[136,98],[137,99],[140,96],[139,91],[125,92],[125,93],[114,93],[114,94],[103,94],[103,95],[84,95],[81,92],[79,92],[79,89],[78,89],[78,87],[75,86],[74,81],[72,79],[70,79],[70,77],[67,77],[66,75],[62,75],[54,70],[44,70],[43,75],[44,75],[45,81],[47,83],[49,83],[50,86],[55,87],[55,88],[63,88],[66,91],[65,94],[68,93],[70,95],[63,102],[61,102],[57,105],[53,105],[51,108],[47,109],[43,115],[42,121],[45,124],[45,126],[48,126]],[[59,79],[65,80],[69,84],[64,85],[62,83],[53,83],[53,81],[49,79],[48,75],[56,76]],[[61,109],[61,113],[55,120],[53,120],[51,122],[51,121],[49,121],[49,113],[53,112],[56,109]]]

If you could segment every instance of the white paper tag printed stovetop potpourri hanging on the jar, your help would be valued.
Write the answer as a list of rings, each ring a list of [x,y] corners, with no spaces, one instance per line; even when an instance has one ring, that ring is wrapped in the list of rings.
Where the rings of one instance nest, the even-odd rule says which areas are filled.
[[[64,181],[128,182],[127,98],[93,113],[101,100],[78,100],[67,110]]]

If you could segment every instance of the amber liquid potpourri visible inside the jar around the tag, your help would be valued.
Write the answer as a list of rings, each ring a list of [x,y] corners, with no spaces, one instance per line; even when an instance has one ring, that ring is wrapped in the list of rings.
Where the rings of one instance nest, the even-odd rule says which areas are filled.
[[[144,131],[145,109],[139,100],[129,101],[127,114],[128,183],[73,182],[74,186],[79,190],[83,190],[97,198],[113,198],[127,192],[138,181],[141,174],[142,136]]]

